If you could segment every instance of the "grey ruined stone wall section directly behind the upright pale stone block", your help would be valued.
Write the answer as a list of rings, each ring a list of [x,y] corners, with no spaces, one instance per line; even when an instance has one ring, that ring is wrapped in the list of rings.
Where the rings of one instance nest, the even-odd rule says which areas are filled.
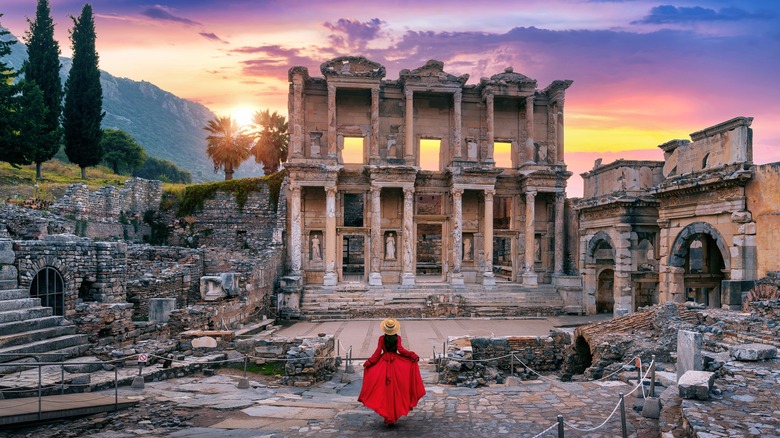
[[[125,292],[133,304],[133,319],[148,318],[152,298],[176,298],[177,307],[199,301],[203,272],[200,249],[128,245]]]

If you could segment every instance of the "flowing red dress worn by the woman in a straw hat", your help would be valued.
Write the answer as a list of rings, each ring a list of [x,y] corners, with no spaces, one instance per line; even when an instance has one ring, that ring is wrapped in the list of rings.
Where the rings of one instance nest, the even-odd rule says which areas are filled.
[[[417,406],[425,395],[417,361],[420,357],[401,345],[398,336],[398,353],[384,351],[384,335],[374,354],[363,364],[363,387],[358,401],[376,411],[393,424]]]

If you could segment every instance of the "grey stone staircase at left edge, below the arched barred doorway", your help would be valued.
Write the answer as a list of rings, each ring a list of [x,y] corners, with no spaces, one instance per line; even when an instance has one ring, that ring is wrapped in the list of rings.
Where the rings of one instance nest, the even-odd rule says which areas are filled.
[[[40,298],[30,298],[16,281],[0,283],[0,374],[14,372],[8,362],[59,362],[84,353],[87,335],[62,316],[53,316],[51,307],[42,307]],[[45,353],[45,354],[43,354]]]

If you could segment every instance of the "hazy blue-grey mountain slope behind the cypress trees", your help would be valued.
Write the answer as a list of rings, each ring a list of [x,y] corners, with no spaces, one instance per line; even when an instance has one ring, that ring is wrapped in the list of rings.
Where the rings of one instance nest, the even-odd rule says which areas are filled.
[[[14,37],[15,38],[15,37]],[[19,70],[27,59],[27,48],[19,38],[4,62]],[[67,42],[66,42],[67,43]],[[60,42],[63,45],[63,42]],[[72,64],[60,57],[63,86]],[[152,157],[169,160],[192,173],[194,182],[220,180],[206,156],[206,131],[203,127],[215,117],[207,107],[177,97],[146,82],[116,77],[100,71],[103,87],[104,129],[121,129],[135,138]],[[241,164],[236,178],[261,176],[262,166],[250,159]]]

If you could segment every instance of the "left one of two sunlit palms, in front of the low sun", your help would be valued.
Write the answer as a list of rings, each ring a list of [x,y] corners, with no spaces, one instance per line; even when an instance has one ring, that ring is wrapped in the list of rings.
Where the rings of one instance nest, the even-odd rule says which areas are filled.
[[[233,172],[249,158],[252,138],[230,116],[209,120],[203,129],[211,133],[206,155],[214,162],[214,173],[224,169],[225,181],[233,179]]]

